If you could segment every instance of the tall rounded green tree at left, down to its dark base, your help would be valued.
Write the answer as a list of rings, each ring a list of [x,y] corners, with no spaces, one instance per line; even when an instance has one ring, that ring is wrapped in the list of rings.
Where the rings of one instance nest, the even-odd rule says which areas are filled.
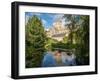
[[[42,21],[37,16],[33,16],[29,18],[25,28],[26,67],[39,67],[43,58],[46,39]]]

